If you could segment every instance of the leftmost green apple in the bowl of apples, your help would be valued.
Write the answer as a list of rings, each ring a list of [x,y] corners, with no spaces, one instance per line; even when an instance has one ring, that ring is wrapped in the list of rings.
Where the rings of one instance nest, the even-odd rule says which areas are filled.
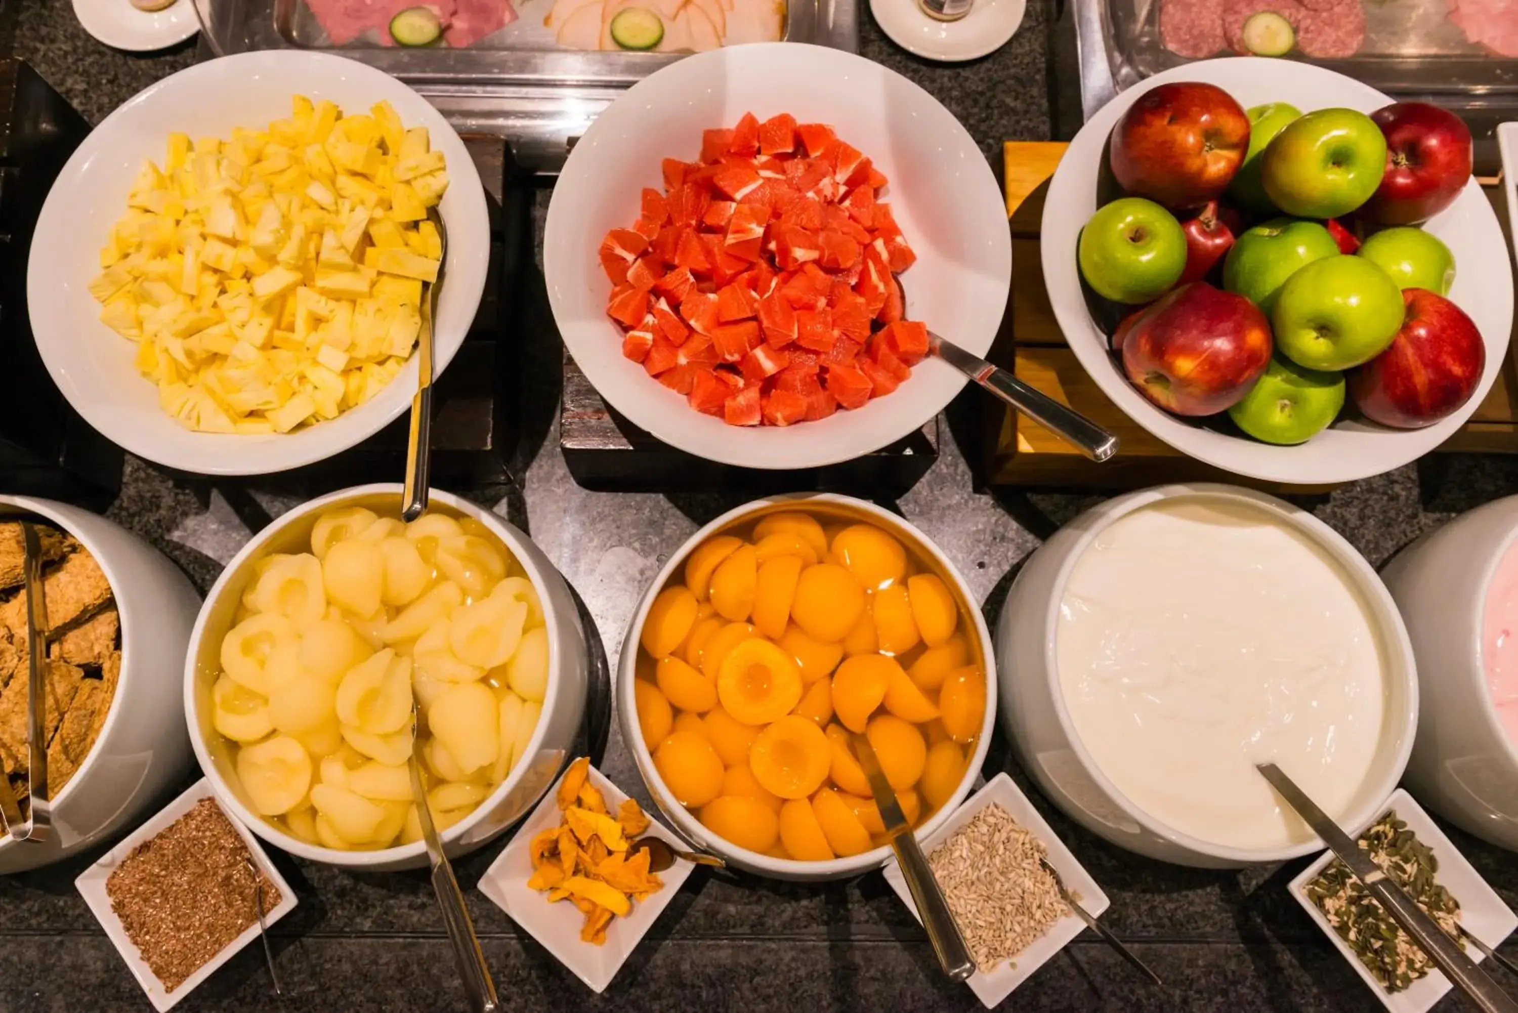
[[[1123,197],[1091,216],[1081,229],[1081,275],[1113,302],[1152,302],[1186,270],[1186,232],[1154,200]]]

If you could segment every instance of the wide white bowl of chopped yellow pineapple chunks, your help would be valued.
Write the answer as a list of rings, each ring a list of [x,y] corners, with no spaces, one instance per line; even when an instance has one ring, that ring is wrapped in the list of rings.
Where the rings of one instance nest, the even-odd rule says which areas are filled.
[[[129,99],[64,166],[32,240],[32,333],[74,410],[140,457],[217,475],[323,460],[410,406],[433,205],[440,372],[490,258],[454,129],[340,56],[199,64]]]

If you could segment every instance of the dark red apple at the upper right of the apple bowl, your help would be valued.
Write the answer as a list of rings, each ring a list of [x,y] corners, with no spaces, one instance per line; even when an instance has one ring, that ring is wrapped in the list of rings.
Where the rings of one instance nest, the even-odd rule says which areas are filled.
[[[1471,129],[1427,102],[1397,102],[1371,114],[1386,135],[1386,175],[1360,208],[1377,225],[1416,225],[1450,207],[1471,178]]]

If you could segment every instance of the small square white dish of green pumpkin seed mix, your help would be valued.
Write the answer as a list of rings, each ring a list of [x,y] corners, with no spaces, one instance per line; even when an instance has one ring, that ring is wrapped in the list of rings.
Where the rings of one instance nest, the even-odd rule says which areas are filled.
[[[1518,928],[1518,916],[1401,788],[1360,844],[1448,931],[1459,923],[1497,946]],[[1290,892],[1387,1010],[1424,1013],[1450,990],[1450,981],[1333,852],[1292,879]],[[1465,949],[1472,960],[1485,960],[1474,946]]]

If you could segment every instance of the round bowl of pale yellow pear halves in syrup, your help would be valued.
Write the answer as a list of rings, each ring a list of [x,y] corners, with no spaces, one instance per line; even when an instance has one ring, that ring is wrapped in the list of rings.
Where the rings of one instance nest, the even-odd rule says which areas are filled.
[[[206,595],[185,659],[196,758],[255,834],[335,866],[427,861],[408,761],[458,855],[559,778],[589,661],[569,585],[518,529],[433,491],[343,489],[282,515]],[[420,726],[411,734],[411,700]]]

